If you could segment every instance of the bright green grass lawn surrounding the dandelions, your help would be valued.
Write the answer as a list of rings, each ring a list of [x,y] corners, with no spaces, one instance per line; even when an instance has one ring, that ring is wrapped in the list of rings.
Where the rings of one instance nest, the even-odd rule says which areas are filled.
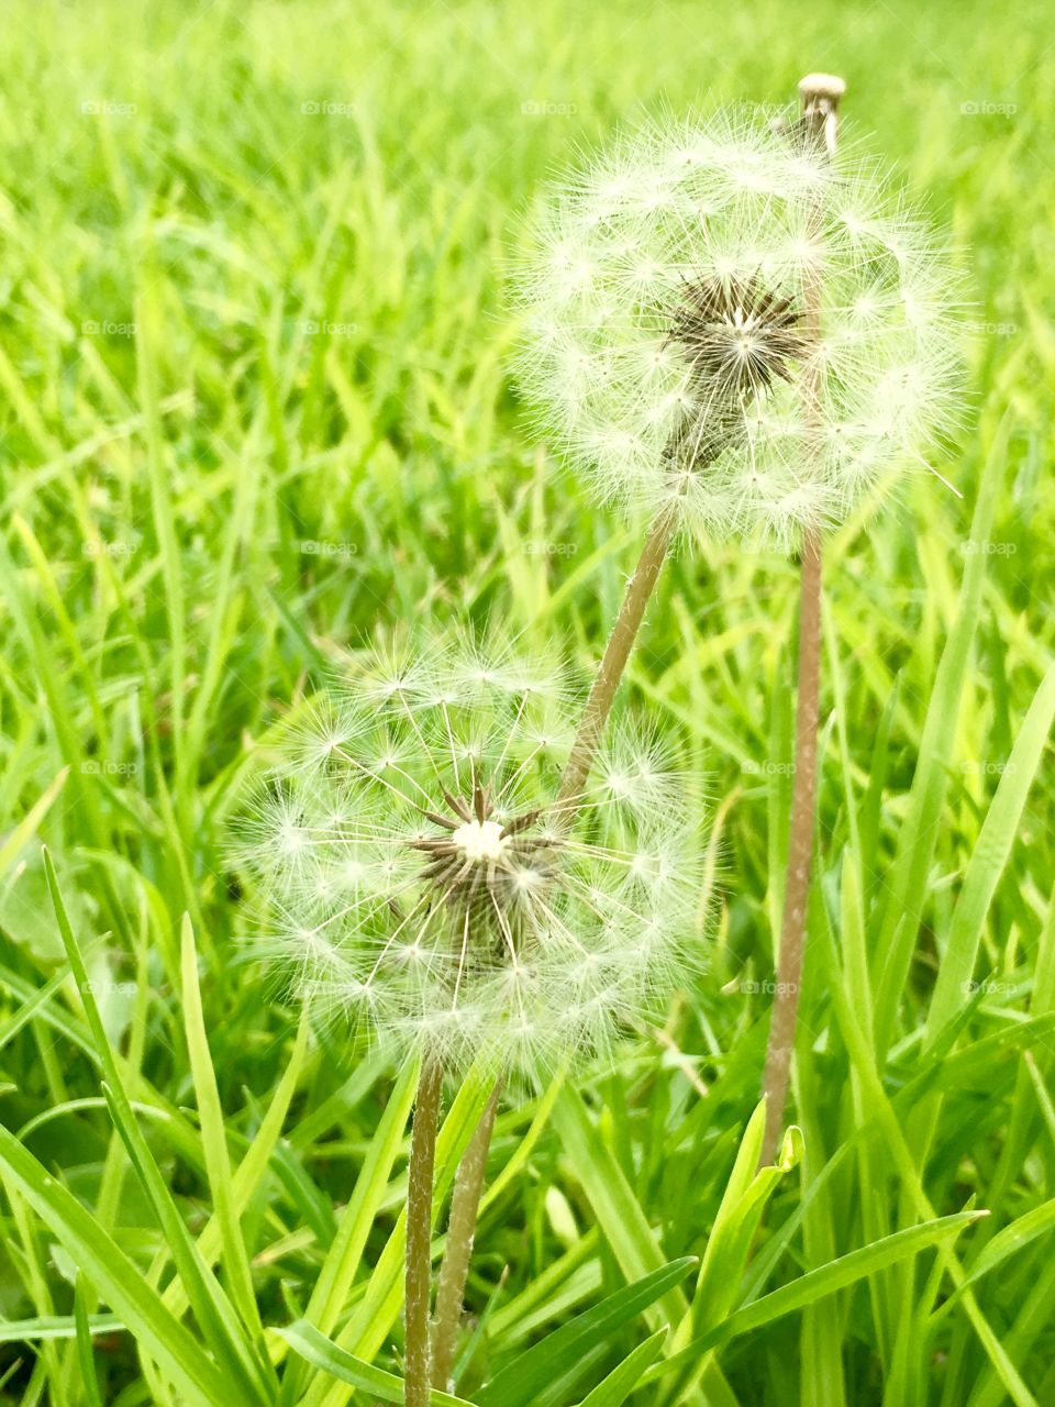
[[[0,1400],[399,1399],[414,1072],[243,960],[228,822],[377,629],[490,618],[588,671],[641,525],[525,431],[518,218],[620,117],[817,68],[980,335],[964,499],[921,474],[829,554],[802,1137],[755,1175],[795,570],[710,543],[629,681],[715,817],[706,974],[504,1106],[459,1397],[1055,1400],[1045,7],[17,0],[6,41]]]

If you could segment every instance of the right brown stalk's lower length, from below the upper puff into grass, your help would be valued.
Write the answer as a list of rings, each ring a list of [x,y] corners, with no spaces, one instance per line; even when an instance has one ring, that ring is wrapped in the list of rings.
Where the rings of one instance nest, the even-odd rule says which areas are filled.
[[[762,1093],[767,1099],[765,1134],[760,1164],[771,1164],[784,1127],[795,1023],[799,1013],[802,958],[806,946],[806,905],[813,861],[813,815],[817,799],[817,713],[820,692],[820,535],[806,533],[802,545],[802,604],[799,612],[799,702],[795,720],[795,789],[788,877],[784,891],[781,953],[765,1051]]]

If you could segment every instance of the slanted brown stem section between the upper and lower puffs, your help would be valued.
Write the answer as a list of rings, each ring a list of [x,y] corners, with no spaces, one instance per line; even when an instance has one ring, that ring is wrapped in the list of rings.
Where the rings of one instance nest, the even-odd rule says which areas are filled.
[[[564,777],[561,778],[557,806],[565,813],[574,813],[577,803],[582,798],[582,788],[589,777],[589,768],[594,765],[608,715],[612,712],[619,681],[626,670],[626,661],[630,657],[646,606],[656,590],[660,568],[670,550],[675,521],[677,515],[670,509],[658,514],[653,521],[634,574],[627,582],[623,605],[609,636],[601,668],[596,671],[594,688],[589,691],[589,698],[582,712],[582,722],[575,734],[575,741],[571,744],[571,753],[568,754]]]

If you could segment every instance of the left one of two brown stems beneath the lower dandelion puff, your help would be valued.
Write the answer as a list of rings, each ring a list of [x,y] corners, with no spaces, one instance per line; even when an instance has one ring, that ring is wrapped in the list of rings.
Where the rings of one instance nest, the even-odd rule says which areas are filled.
[[[429,1404],[429,1300],[432,1287],[432,1182],[436,1165],[443,1068],[426,1057],[418,1085],[407,1183],[407,1299],[404,1307],[407,1407]]]

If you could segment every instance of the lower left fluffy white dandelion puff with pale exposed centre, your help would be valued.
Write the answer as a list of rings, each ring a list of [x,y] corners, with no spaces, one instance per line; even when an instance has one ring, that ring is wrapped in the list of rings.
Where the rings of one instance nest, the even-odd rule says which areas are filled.
[[[449,1069],[603,1054],[693,960],[699,837],[668,751],[629,727],[574,819],[574,694],[461,646],[373,658],[290,740],[241,860],[295,989]]]

